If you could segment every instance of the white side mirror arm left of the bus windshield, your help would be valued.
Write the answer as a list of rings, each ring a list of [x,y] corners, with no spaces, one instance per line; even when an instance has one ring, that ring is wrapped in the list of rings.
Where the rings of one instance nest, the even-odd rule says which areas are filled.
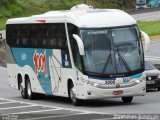
[[[73,37],[77,42],[80,55],[84,55],[84,44],[82,39],[76,34],[73,34]]]

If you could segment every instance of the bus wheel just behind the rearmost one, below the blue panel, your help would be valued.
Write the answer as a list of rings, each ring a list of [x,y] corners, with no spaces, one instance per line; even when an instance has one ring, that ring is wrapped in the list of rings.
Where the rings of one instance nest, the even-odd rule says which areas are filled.
[[[29,100],[33,100],[35,98],[35,93],[32,92],[30,80],[27,80],[27,94]]]

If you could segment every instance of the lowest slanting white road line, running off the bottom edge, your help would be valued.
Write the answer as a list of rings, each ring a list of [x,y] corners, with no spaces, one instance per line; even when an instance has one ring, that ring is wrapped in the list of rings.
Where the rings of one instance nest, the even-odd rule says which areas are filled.
[[[60,118],[60,117],[69,117],[74,115],[83,115],[88,113],[76,113],[76,114],[69,114],[69,115],[57,115],[57,116],[48,116],[48,117],[38,117],[38,118],[28,118],[28,119],[19,119],[19,120],[40,120],[40,119],[47,119],[47,118]]]

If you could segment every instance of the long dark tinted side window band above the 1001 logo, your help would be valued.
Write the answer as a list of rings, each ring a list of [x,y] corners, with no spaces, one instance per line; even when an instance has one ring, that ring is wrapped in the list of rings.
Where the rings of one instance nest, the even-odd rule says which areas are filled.
[[[68,49],[64,23],[7,25],[12,47]]]

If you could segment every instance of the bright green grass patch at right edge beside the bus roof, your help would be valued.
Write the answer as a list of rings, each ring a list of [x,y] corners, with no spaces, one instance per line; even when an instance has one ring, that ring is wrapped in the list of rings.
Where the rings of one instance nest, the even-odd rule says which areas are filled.
[[[138,26],[149,36],[160,35],[160,21],[138,21]]]

